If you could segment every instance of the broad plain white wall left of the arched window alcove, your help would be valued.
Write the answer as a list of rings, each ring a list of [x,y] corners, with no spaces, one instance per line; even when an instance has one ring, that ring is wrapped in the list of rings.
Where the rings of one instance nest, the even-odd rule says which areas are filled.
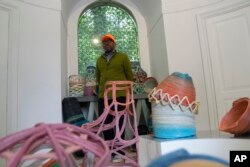
[[[61,122],[61,2],[3,0],[10,10],[8,133]]]

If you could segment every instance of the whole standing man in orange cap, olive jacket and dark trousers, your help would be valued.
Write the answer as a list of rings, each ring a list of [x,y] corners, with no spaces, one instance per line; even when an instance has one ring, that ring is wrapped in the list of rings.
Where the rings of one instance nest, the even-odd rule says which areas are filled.
[[[98,84],[98,110],[99,115],[104,111],[104,86],[107,81],[133,80],[131,63],[128,56],[115,49],[116,40],[112,34],[106,34],[101,38],[104,53],[96,61],[96,81]],[[111,100],[110,100],[111,101]],[[125,103],[126,97],[123,92],[117,92],[117,101]],[[118,106],[118,111],[124,106]],[[113,116],[108,115],[105,124],[111,123]],[[120,120],[120,125],[123,119]],[[103,132],[105,140],[112,140],[115,136],[113,129]],[[124,136],[123,136],[124,137]]]

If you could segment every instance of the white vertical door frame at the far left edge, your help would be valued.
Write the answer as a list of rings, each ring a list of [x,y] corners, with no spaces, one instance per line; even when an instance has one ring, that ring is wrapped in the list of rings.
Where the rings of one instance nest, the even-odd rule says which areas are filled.
[[[4,116],[6,120],[6,134],[15,132],[18,129],[18,53],[20,20],[18,6],[19,2],[16,1],[0,2],[0,10],[4,13],[6,19],[3,24],[7,24],[3,25],[4,28],[7,28],[4,37],[6,53],[3,54],[6,67],[1,67],[5,72],[0,74],[1,79],[5,78],[3,87],[6,89],[3,95],[4,100],[2,101],[6,104],[6,108],[4,109],[6,110],[6,115]]]

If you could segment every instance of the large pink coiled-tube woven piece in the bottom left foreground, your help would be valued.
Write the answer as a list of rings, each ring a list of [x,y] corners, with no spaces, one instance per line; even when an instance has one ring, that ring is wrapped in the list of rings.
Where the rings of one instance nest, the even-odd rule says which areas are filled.
[[[42,166],[50,160],[56,160],[61,167],[73,167],[76,163],[72,153],[79,150],[95,155],[95,167],[106,167],[110,160],[109,148],[102,138],[70,124],[37,124],[0,139],[0,157],[6,159],[7,167],[31,161],[33,166]]]

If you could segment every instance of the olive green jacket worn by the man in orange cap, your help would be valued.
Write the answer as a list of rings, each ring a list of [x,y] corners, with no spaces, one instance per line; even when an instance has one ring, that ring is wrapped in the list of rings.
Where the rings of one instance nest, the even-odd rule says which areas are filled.
[[[103,98],[104,86],[107,81],[133,80],[131,63],[128,56],[121,52],[115,52],[109,61],[105,55],[101,55],[96,61],[96,81],[99,86],[98,97]],[[117,97],[124,96],[117,92]]]

